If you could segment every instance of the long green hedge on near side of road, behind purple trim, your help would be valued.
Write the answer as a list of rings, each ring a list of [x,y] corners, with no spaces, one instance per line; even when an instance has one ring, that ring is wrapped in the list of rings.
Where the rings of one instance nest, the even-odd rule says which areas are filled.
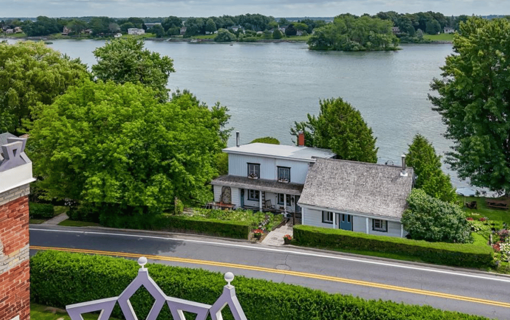
[[[31,301],[61,308],[68,304],[120,295],[136,277],[139,268],[132,260],[56,251],[38,252],[31,258],[30,267]],[[170,297],[213,304],[225,285],[220,273],[164,265],[147,267],[152,279]],[[242,276],[236,276],[232,284],[236,286],[237,297],[250,320],[487,319],[430,306],[327,294],[296,285]],[[138,290],[130,302],[140,317],[148,313],[154,299],[145,290]],[[171,319],[167,310],[167,307],[163,307],[159,320]],[[224,312],[223,315],[225,320],[232,319],[231,314]],[[122,318],[118,306],[112,316]]]

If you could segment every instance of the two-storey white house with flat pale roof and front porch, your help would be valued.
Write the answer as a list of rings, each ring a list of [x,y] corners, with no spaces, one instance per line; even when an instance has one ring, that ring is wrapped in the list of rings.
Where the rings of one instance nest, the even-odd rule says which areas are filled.
[[[268,143],[223,149],[228,174],[211,184],[216,207],[300,212],[297,205],[308,168],[317,158],[333,158],[330,150]],[[239,136],[238,136],[239,141]]]

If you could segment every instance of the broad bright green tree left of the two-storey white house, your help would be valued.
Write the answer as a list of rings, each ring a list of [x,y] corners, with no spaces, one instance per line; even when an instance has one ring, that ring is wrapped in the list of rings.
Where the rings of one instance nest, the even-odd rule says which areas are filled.
[[[175,197],[203,204],[228,138],[226,111],[187,92],[161,104],[141,84],[73,87],[41,109],[31,131],[39,187],[47,199],[93,205],[110,225],[171,209]]]

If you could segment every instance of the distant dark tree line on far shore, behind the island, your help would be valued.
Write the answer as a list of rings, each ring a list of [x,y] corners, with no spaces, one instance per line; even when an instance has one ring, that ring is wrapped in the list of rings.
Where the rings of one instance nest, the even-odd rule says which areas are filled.
[[[439,12],[417,12],[397,13],[395,11],[379,12],[375,15],[364,14],[363,16],[379,18],[391,22],[392,26],[399,28],[397,37],[416,36],[418,30],[427,34],[438,34],[443,32],[444,27],[452,27],[458,30],[461,21],[466,21],[468,16],[448,17]],[[145,23],[160,23],[147,27]],[[111,18],[111,17],[74,17],[74,18],[49,18],[39,16],[35,21],[26,19],[8,19],[0,21],[2,28],[14,28],[19,26],[23,32],[31,36],[47,36],[61,33],[63,27],[67,26],[72,33],[79,35],[82,31],[90,29],[92,35],[114,34],[117,32],[127,33],[128,28],[143,28],[152,32],[158,37],[176,36],[181,34],[181,27],[186,27],[185,37],[205,35],[214,33],[219,29],[229,30],[236,33],[239,29],[254,32],[273,31],[278,27],[289,27],[290,31],[285,33],[293,36],[300,34],[312,34],[315,28],[322,27],[330,21],[322,19],[299,19],[290,21],[286,18],[275,19],[272,16],[262,14],[242,14],[237,16],[223,15],[211,17],[176,17],[168,16],[163,18]],[[152,30],[151,30],[152,29]]]

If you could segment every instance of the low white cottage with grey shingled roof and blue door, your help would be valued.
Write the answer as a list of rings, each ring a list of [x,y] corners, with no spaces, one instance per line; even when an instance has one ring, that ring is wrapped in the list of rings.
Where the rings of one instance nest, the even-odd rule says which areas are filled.
[[[298,205],[303,225],[404,237],[400,222],[414,171],[405,166],[317,159]]]

